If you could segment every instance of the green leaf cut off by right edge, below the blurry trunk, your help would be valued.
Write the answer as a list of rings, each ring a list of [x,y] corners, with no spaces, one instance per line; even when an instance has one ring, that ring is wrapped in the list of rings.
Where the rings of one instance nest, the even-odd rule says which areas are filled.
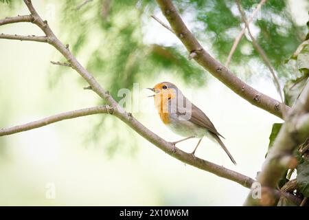
[[[297,166],[297,186],[304,197],[309,197],[309,161]]]

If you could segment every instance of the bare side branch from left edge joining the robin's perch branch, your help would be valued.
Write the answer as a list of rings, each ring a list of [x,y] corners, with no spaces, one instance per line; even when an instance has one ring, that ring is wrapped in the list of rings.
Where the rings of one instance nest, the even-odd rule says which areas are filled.
[[[91,107],[87,109],[67,111],[64,113],[59,113],[56,115],[49,116],[47,118],[43,118],[41,120],[29,122],[27,124],[12,126],[8,129],[0,129],[0,136],[11,135],[13,133],[19,133],[23,131],[29,131],[31,129],[37,129],[41,126],[46,126],[48,124],[60,122],[62,120],[78,118],[78,117],[82,117],[86,115],[94,115],[94,114],[99,114],[99,113],[113,113],[113,109],[111,109],[111,107],[109,106],[98,106],[98,107]]]

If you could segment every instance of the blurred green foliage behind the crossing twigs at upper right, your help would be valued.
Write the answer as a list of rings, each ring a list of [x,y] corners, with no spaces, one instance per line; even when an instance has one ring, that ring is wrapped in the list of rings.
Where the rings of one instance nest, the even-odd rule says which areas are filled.
[[[233,41],[241,30],[240,25],[242,25],[235,1],[178,0],[176,2],[183,14],[192,11],[190,16],[193,18],[190,20],[199,21],[198,27],[192,29],[194,34],[198,34],[199,40],[202,42],[211,42],[211,49],[215,50],[217,58],[221,62],[225,62]],[[254,28],[251,29],[251,31],[258,32],[255,39],[266,52],[280,77],[289,75],[288,69],[282,67],[282,63],[288,55],[293,54],[301,42],[299,35],[305,34],[304,27],[298,27],[290,17],[286,2],[266,1],[253,19]],[[241,3],[247,18],[249,18],[260,1],[241,1]],[[251,39],[248,36],[243,36],[231,64],[245,66],[253,58],[257,58],[262,63],[258,52],[244,50],[244,46],[248,44],[251,45]]]

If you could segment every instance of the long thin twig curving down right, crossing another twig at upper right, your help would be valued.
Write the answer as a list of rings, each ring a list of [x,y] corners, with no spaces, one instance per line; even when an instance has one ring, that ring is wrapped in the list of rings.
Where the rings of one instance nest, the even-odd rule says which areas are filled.
[[[246,19],[246,15],[244,14],[244,10],[242,10],[242,6],[240,5],[239,0],[236,0],[236,4],[237,4],[237,7],[238,7],[238,10],[240,11],[240,14],[241,14],[241,17],[242,17],[242,21],[244,22],[244,27],[247,28],[247,30],[248,30],[248,33],[249,33],[249,36],[250,36],[250,38],[252,40],[253,46],[255,47],[255,50],[258,51],[258,53],[262,57],[262,60],[264,61],[264,63],[268,67],[269,71],[273,75],[273,82],[274,82],[275,87],[277,89],[277,92],[278,92],[278,94],[279,94],[279,96],[281,98],[282,103],[284,103],[284,97],[282,95],[282,90],[281,90],[281,86],[280,86],[280,83],[279,83],[279,79],[277,78],[277,75],[275,74],[275,70],[273,69],[273,65],[271,65],[271,61],[269,61],[266,53],[264,52],[262,47],[258,44],[258,42],[255,40],[255,38],[251,34],[251,31],[250,31],[250,28],[249,28],[249,23],[248,23],[248,21]],[[284,118],[285,115],[286,115],[285,105],[283,105],[282,114],[283,114],[283,118]]]

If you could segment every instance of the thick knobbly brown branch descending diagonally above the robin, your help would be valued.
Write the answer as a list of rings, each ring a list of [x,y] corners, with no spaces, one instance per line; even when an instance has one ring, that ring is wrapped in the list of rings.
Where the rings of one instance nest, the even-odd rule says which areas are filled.
[[[251,104],[272,113],[273,115],[282,118],[282,105],[284,103],[279,102],[260,91],[253,89],[240,78],[233,74],[229,69],[224,67],[220,62],[212,58],[196,40],[192,32],[187,29],[185,23],[181,19],[179,13],[174,7],[171,0],[157,0],[161,11],[165,15],[166,19],[170,23],[172,30],[174,30],[176,36],[181,40],[183,45],[190,52],[190,56],[194,60],[204,67],[210,74],[218,78],[222,83],[229,87],[232,91],[244,98]],[[288,111],[290,107],[286,106]]]

